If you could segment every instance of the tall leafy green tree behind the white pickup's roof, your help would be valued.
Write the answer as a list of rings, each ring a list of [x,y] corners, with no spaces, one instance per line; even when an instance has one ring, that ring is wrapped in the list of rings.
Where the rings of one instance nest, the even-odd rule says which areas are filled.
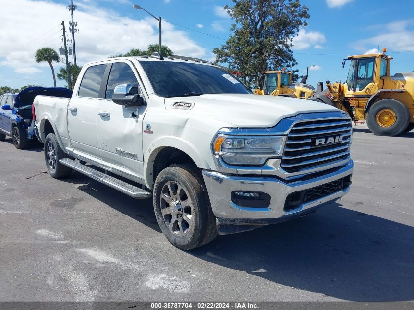
[[[260,87],[263,71],[291,71],[297,80],[298,70],[293,57],[292,39],[301,26],[306,26],[308,8],[299,0],[232,0],[226,5],[235,21],[232,34],[221,48],[214,48],[216,63],[229,63],[232,70],[242,73],[250,86]]]

